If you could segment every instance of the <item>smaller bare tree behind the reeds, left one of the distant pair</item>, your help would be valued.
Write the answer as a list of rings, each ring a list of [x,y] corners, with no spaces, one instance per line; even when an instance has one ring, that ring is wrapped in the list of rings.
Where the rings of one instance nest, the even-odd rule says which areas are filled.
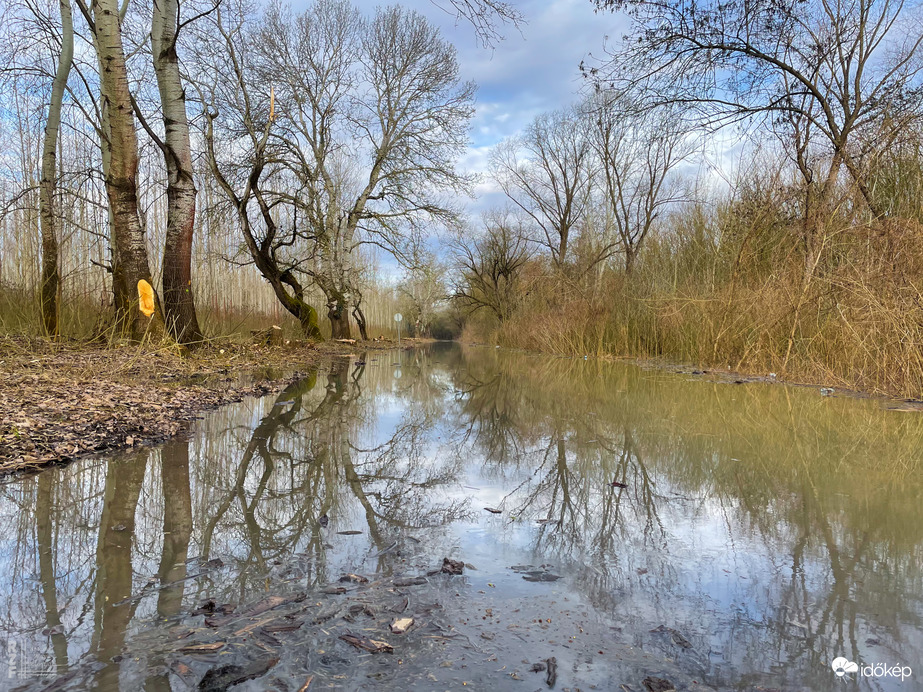
[[[494,178],[535,223],[537,242],[559,268],[568,259],[571,236],[590,201],[592,148],[587,134],[580,113],[567,108],[540,115],[491,155]]]

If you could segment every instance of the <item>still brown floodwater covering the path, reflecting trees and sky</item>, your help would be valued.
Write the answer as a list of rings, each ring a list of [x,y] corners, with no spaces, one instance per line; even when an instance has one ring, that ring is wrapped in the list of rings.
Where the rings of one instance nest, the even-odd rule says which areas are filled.
[[[357,353],[188,439],[0,487],[0,688],[923,689],[921,415]]]

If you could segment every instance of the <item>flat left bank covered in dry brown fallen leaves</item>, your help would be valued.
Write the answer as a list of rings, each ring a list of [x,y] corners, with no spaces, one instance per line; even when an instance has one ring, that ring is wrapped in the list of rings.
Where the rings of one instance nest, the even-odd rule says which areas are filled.
[[[324,361],[396,347],[389,340],[279,346],[227,340],[184,355],[170,347],[4,337],[0,474],[160,442],[203,411],[279,391]]]

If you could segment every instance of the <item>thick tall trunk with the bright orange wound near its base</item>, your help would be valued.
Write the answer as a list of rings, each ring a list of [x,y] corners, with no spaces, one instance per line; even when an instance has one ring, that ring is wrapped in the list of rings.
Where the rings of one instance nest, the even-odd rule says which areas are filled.
[[[103,136],[108,139],[106,195],[111,214],[112,281],[118,321],[140,341],[148,330],[163,330],[159,306],[149,318],[138,309],[138,282],[153,286],[141,219],[138,216],[138,137],[128,87],[121,15],[116,0],[93,0],[93,40],[99,59],[99,88],[105,111]]]

